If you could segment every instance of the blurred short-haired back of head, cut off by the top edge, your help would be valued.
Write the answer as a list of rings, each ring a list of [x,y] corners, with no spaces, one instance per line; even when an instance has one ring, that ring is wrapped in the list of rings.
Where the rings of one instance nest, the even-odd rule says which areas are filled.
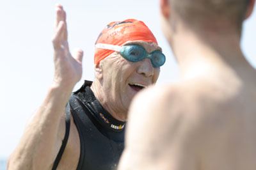
[[[243,20],[252,13],[255,0],[161,0],[161,12],[172,22],[182,21],[191,29],[216,31],[234,28],[241,33]],[[172,23],[173,24],[173,23]],[[214,30],[214,31],[215,31]]]

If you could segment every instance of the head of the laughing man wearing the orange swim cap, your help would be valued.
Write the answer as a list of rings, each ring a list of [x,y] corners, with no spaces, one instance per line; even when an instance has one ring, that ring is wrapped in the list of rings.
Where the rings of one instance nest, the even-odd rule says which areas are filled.
[[[99,46],[106,44],[115,48]],[[124,45],[138,47],[144,52],[145,58],[136,61],[125,58],[118,50]],[[115,112],[127,113],[134,95],[156,83],[160,68],[152,64],[154,62],[151,54],[161,53],[161,47],[157,45],[150,29],[143,22],[134,19],[108,24],[100,33],[95,47],[95,79],[99,80],[102,86],[103,100],[108,107],[114,107]]]

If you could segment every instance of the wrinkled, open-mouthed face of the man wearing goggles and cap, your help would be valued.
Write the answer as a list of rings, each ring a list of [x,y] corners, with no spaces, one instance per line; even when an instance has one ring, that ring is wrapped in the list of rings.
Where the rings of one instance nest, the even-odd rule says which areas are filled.
[[[127,44],[141,45],[148,53],[161,50],[152,42],[134,41]],[[114,52],[103,60],[103,88],[108,93],[108,105],[116,112],[127,112],[131,100],[141,89],[156,83],[160,68],[154,68],[150,59],[131,62]]]

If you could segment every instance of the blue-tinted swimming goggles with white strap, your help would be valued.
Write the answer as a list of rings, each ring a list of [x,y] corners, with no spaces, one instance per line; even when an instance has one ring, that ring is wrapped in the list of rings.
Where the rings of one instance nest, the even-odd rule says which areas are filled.
[[[152,66],[154,66],[155,68],[163,66],[165,63],[165,56],[160,50],[154,50],[153,52],[148,54],[148,52],[140,45],[119,46],[106,43],[97,43],[95,47],[99,49],[108,49],[120,52],[123,58],[131,62],[138,62],[142,59],[149,58]]]

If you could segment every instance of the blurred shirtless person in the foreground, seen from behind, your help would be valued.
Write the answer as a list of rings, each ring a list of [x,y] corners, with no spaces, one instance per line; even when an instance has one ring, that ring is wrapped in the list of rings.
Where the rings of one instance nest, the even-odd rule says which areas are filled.
[[[240,47],[254,3],[161,0],[180,79],[132,101],[119,169],[256,169],[256,72]]]

